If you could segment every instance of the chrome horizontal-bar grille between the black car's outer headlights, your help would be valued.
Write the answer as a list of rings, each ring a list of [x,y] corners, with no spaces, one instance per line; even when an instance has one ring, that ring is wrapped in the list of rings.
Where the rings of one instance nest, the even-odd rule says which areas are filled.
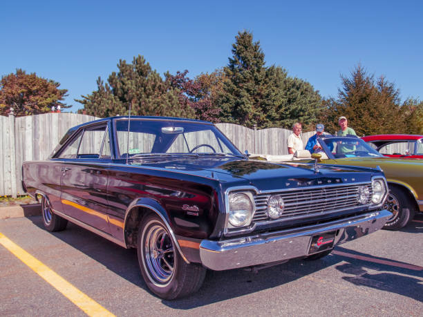
[[[373,190],[370,183],[320,186],[312,189],[303,188],[254,195],[256,212],[254,213],[253,222],[307,218],[313,215],[365,206],[357,202],[359,186],[367,186],[371,197]],[[281,195],[285,203],[283,215],[276,220],[272,220],[266,215],[267,202],[272,195]],[[369,203],[367,202],[367,204]]]

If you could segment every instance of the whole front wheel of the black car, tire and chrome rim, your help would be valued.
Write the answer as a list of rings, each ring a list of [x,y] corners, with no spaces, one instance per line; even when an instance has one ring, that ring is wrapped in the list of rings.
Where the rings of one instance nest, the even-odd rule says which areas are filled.
[[[206,269],[187,264],[158,216],[149,214],[138,231],[138,264],[147,287],[160,298],[173,300],[192,294],[203,285]]]

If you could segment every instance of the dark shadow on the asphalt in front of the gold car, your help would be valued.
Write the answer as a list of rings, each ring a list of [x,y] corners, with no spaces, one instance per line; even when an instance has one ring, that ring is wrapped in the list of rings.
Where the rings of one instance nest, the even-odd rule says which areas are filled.
[[[333,253],[334,260],[346,262],[335,267],[348,274],[342,277],[344,280],[423,302],[423,267],[342,247],[337,247]]]

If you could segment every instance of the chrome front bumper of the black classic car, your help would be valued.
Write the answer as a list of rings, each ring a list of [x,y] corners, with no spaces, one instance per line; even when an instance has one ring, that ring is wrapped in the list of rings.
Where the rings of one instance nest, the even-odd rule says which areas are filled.
[[[223,241],[203,240],[200,258],[205,267],[221,271],[308,256],[313,236],[336,231],[334,246],[381,229],[391,218],[387,210],[299,229],[261,233]]]

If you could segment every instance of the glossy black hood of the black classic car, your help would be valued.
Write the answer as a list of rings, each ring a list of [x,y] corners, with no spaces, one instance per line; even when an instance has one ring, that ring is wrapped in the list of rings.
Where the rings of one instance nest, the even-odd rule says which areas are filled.
[[[261,190],[291,185],[316,186],[344,182],[368,182],[370,180],[369,171],[380,173],[373,169],[358,169],[348,166],[328,166],[323,164],[319,164],[319,171],[316,172],[314,171],[314,164],[274,164],[254,160],[228,159],[227,157],[213,160],[150,162],[148,164],[142,164],[142,166],[213,178],[220,182],[247,180],[248,184],[256,186]]]

